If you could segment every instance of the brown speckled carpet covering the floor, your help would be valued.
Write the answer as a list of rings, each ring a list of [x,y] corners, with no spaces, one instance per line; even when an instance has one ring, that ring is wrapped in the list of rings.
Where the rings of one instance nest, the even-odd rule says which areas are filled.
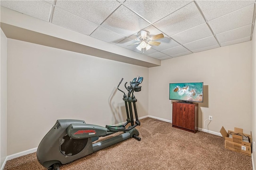
[[[204,132],[190,133],[152,118],[140,120],[141,141],[128,139],[60,170],[252,170],[250,156],[224,149],[224,139]],[[45,170],[36,153],[8,160],[4,170]]]

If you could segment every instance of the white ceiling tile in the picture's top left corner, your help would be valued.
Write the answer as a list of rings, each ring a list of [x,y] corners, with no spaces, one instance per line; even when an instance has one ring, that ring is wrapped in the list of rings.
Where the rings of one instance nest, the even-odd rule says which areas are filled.
[[[1,6],[18,11],[22,14],[49,21],[52,5],[44,1],[36,0],[1,0]]]

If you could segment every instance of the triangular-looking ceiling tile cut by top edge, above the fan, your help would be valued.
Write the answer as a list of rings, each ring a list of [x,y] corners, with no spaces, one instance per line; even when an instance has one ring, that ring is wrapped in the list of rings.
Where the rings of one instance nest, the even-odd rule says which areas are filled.
[[[140,16],[143,16],[150,23],[154,23],[182,6],[190,3],[186,0],[175,1],[152,1],[152,0],[126,0],[124,5]]]

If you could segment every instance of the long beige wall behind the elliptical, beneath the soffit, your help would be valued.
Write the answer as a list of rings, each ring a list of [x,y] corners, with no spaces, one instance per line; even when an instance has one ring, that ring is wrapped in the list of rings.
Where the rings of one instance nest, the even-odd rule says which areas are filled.
[[[148,115],[148,68],[7,39],[8,155],[38,147],[57,119],[105,126],[126,121],[121,78],[143,76],[139,117]],[[17,140],[18,139],[18,140]]]

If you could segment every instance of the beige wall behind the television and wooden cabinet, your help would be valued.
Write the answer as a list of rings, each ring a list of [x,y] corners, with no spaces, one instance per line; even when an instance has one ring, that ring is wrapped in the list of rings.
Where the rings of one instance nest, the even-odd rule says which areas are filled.
[[[250,133],[251,43],[239,43],[162,61],[149,68],[149,115],[172,120],[169,83],[204,82],[198,126],[219,133],[243,128]],[[204,120],[213,116],[213,121]],[[207,127],[208,125],[208,127]]]

